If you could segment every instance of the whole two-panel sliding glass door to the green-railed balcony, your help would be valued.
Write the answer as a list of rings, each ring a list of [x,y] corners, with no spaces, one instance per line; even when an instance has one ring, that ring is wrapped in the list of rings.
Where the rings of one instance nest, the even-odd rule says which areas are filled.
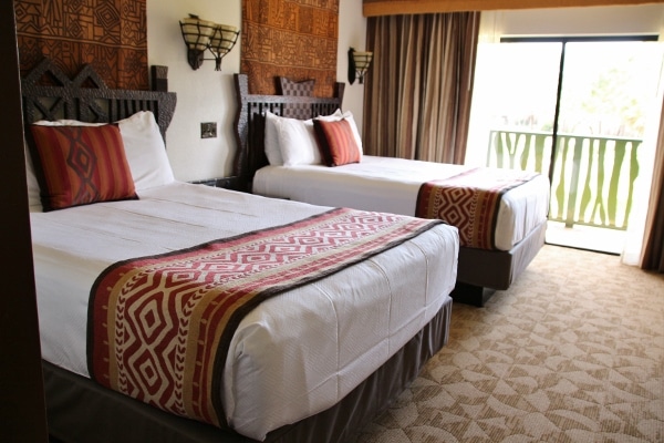
[[[661,78],[662,44],[637,38],[481,44],[466,163],[549,175],[547,240],[620,253],[645,204]]]

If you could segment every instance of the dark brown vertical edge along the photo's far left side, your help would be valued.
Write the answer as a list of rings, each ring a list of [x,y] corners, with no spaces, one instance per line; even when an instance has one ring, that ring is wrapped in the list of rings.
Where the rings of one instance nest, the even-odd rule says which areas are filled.
[[[0,440],[49,441],[25,185],[21,83],[14,11],[0,2],[0,103],[2,103],[2,229],[0,241]]]

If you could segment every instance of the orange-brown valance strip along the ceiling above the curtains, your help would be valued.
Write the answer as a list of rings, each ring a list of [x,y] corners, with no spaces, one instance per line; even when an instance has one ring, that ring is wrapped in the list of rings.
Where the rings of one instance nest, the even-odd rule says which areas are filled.
[[[500,9],[605,7],[662,3],[656,0],[363,0],[364,17],[489,11]]]

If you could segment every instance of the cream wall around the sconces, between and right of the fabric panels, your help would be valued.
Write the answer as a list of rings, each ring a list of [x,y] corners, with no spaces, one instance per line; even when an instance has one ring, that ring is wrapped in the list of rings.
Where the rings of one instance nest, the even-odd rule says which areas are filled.
[[[188,13],[205,20],[241,27],[241,0],[147,0],[148,65],[168,66],[168,89],[177,93],[177,107],[167,134],[168,157],[176,178],[197,181],[231,175],[236,151],[232,122],[236,113],[232,74],[240,71],[240,42],[215,71],[205,61],[197,71],[187,63],[178,20]],[[340,0],[338,81],[345,82],[344,111],[352,111],[362,127],[364,86],[347,84],[347,49],[364,48],[366,19],[362,2]],[[216,138],[200,138],[200,123],[216,122]]]

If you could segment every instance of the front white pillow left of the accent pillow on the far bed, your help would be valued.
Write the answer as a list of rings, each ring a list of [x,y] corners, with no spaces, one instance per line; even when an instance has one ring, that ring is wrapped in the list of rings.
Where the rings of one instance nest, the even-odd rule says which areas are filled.
[[[322,162],[313,120],[279,117],[277,128],[284,166],[318,165]]]

